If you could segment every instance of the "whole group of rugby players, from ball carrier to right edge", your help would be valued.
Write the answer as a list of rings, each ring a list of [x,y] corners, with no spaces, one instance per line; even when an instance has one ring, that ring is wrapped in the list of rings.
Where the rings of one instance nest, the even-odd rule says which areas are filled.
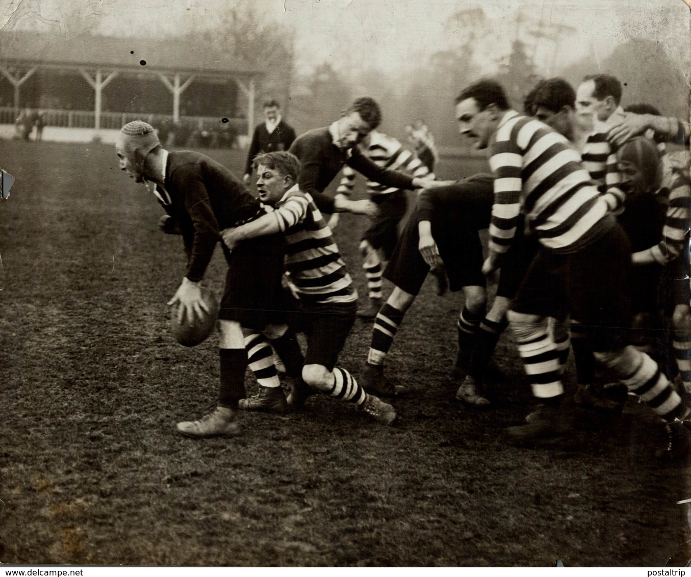
[[[381,111],[368,97],[298,138],[267,102],[244,178],[201,153],[163,149],[145,122],[123,126],[121,169],[153,189],[166,212],[160,228],[183,238],[187,269],[169,302],[178,322],[209,314],[201,283],[219,240],[228,265],[216,323],[218,404],[177,431],[238,435],[243,411],[300,411],[317,394],[392,424],[396,399],[408,391],[388,379],[386,358],[432,273],[439,294],[464,295],[453,366],[462,404],[491,408],[486,373],[502,332],[513,334],[536,406],[507,428],[510,442],[569,437],[574,404],[616,412],[634,395],[668,435],[659,457],[687,457],[691,183],[665,142],[688,142],[691,131],[648,104],[624,109],[621,97],[612,76],[585,77],[577,90],[552,78],[533,88],[520,113],[498,82],[469,84],[455,120],[486,150],[491,172],[459,181],[436,180],[437,153],[422,122],[406,127],[415,151],[377,131]],[[245,187],[251,173],[257,194]],[[339,173],[331,198],[324,190]],[[356,173],[367,180],[365,200],[350,198]],[[417,207],[404,223],[406,190],[417,191]],[[360,309],[332,234],[341,212],[371,221],[360,244],[368,285]],[[386,301],[382,278],[393,285]],[[491,302],[488,278],[497,283]],[[373,326],[352,375],[338,365],[357,316]],[[651,337],[659,334],[668,338]],[[571,351],[577,388],[567,399]],[[252,396],[248,366],[258,385]],[[616,383],[598,383],[598,366]]]

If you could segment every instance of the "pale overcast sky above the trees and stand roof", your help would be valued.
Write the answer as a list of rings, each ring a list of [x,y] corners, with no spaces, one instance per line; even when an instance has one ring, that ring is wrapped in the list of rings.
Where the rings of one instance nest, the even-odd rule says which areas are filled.
[[[524,21],[574,28],[554,41],[534,41],[538,64],[569,64],[584,55],[605,58],[630,37],[659,41],[688,70],[691,61],[689,8],[682,0],[241,0],[296,30],[299,69],[330,61],[341,70],[363,64],[395,73],[415,66],[458,41],[445,24],[460,8],[482,5],[491,23],[486,38],[487,70],[509,52],[515,15]],[[37,27],[72,33],[162,35],[212,28],[238,0],[4,0],[0,19],[8,28]],[[524,25],[527,26],[527,25]]]

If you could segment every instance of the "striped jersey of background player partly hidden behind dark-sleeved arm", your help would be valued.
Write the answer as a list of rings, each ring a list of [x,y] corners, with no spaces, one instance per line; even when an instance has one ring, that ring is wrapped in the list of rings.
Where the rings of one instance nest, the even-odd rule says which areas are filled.
[[[426,164],[424,164],[422,160],[419,160],[415,153],[406,149],[392,136],[379,131],[370,132],[370,143],[366,149],[363,149],[363,154],[379,167],[405,171],[413,176],[413,178],[428,178],[430,180],[434,180],[435,178],[434,173],[429,171]],[[350,196],[355,183],[356,173],[348,165],[345,165],[342,174],[343,176],[336,192],[337,194]],[[374,180],[367,181],[367,191],[372,196],[390,194],[398,190],[400,189],[386,187],[386,185],[381,185]]]

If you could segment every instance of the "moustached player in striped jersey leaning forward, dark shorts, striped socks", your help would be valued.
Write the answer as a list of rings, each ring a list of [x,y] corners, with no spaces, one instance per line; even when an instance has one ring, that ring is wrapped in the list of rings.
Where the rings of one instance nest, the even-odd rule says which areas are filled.
[[[511,110],[502,87],[485,80],[468,86],[457,99],[462,132],[490,147],[495,201],[489,256],[483,271],[500,266],[511,246],[520,212],[540,242],[509,311],[509,323],[542,402],[529,424],[509,429],[519,441],[558,437],[571,430],[561,408],[564,389],[558,350],[549,338],[548,316],[589,328],[598,361],[630,392],[641,397],[663,421],[681,426],[689,410],[657,364],[627,345],[630,316],[623,289],[630,243],[607,202],[580,165],[580,155],[545,124]]]

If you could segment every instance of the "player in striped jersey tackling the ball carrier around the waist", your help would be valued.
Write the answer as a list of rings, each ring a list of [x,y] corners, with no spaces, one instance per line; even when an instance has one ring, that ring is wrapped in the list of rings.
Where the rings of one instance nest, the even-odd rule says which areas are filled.
[[[347,370],[335,366],[355,321],[357,292],[331,229],[312,196],[296,184],[300,161],[281,151],[258,155],[254,164],[259,198],[275,210],[246,225],[224,230],[222,237],[234,252],[249,239],[285,234],[285,269],[292,292],[299,299],[292,320],[296,331],[307,336],[302,380],[288,397],[288,405],[301,408],[312,387],[391,424],[396,418],[394,408],[368,395]]]

